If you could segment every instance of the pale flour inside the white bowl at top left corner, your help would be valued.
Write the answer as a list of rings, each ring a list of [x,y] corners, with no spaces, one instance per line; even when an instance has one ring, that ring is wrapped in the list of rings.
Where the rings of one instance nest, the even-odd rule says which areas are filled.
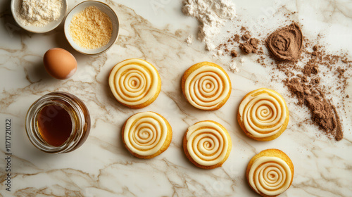
[[[23,0],[18,9],[20,23],[44,27],[61,15],[62,0]]]

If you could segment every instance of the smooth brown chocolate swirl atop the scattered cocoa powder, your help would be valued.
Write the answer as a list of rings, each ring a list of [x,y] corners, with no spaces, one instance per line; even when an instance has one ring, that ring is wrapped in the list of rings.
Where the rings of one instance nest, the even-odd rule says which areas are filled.
[[[294,61],[300,55],[303,45],[303,35],[298,24],[276,30],[267,40],[269,51],[282,61]]]

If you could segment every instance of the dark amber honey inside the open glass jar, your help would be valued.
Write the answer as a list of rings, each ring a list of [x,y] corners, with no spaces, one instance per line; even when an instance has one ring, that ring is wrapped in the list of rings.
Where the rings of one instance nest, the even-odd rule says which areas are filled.
[[[70,137],[72,120],[61,106],[45,106],[37,119],[39,133],[51,146],[61,146]]]

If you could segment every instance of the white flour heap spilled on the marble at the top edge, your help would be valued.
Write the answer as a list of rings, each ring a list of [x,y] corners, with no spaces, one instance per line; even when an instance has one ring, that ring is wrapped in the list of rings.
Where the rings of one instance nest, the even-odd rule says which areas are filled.
[[[206,50],[215,49],[212,40],[227,20],[236,17],[231,0],[184,0],[182,12],[195,17],[199,25],[198,39],[206,43]]]

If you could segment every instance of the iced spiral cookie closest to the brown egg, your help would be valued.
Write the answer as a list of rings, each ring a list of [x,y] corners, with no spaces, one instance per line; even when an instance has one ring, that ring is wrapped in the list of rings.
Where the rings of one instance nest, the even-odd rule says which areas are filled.
[[[158,96],[161,79],[156,68],[150,63],[140,59],[128,59],[118,63],[111,70],[109,85],[120,103],[131,108],[143,108]]]

